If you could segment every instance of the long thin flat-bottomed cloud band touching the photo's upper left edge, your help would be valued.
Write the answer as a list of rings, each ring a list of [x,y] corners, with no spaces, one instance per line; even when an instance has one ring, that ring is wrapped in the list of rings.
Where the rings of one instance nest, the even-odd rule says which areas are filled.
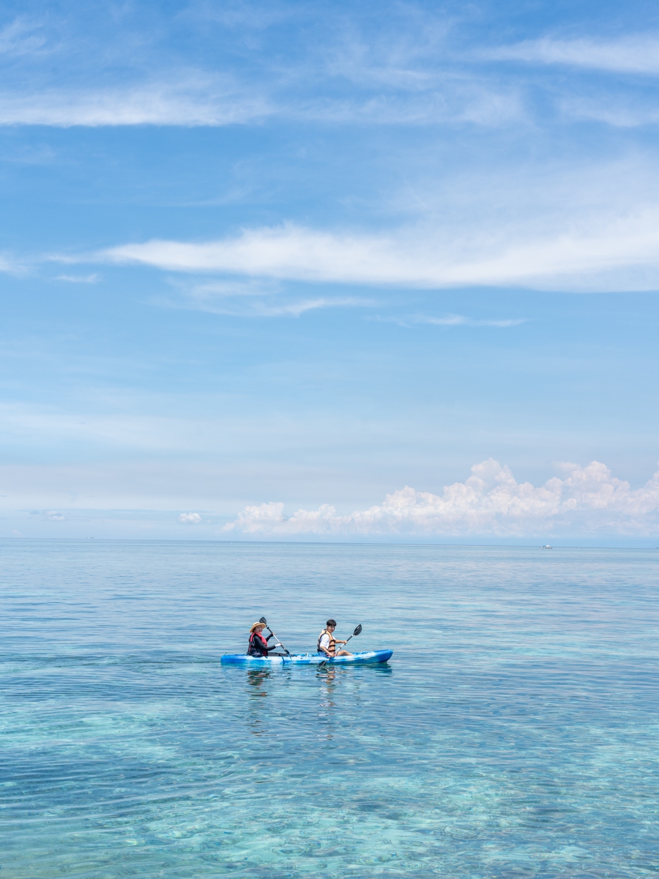
[[[515,88],[494,91],[471,77],[438,84],[423,96],[321,94],[259,89],[226,77],[181,71],[174,82],[154,81],[105,89],[0,91],[0,125],[51,127],[222,127],[280,120],[353,125],[474,124],[501,127],[524,115]]]

